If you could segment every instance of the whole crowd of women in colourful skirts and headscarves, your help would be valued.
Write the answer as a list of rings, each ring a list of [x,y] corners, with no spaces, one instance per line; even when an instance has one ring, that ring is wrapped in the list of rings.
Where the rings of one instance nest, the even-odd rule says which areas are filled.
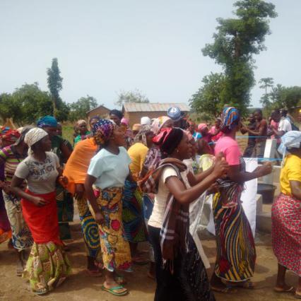
[[[196,126],[172,107],[166,116],[142,117],[130,127],[122,112],[112,110],[107,119],[79,120],[73,145],[52,116],[18,130],[2,127],[0,243],[16,250],[17,276],[28,278],[37,295],[68,278],[75,203],[85,271],[104,274],[107,293],[129,293],[120,271],[132,272],[135,264],[149,264],[158,301],[211,301],[214,291],[253,289],[256,249],[240,196],[244,182],[270,174],[272,165],[246,172],[243,157],[263,158],[266,139],[273,138],[283,158],[281,194],[272,208],[274,290],[301,297],[301,132],[285,110],[273,111],[268,122],[255,110],[247,121],[225,106],[214,126]],[[249,135],[243,154],[238,131]],[[209,194],[216,228],[211,278],[196,233]],[[287,269],[299,276],[297,288],[285,282]]]

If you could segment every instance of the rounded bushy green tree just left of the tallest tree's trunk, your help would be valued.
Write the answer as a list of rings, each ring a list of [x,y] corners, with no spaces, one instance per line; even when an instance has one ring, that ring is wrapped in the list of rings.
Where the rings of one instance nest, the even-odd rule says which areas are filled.
[[[192,109],[197,113],[206,112],[211,117],[216,116],[223,109],[223,90],[225,76],[223,73],[211,73],[202,79],[203,85],[189,100]]]

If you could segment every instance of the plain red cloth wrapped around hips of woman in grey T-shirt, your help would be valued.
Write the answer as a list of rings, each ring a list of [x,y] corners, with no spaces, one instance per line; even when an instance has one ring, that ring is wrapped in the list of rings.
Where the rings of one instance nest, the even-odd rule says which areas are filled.
[[[22,199],[22,210],[25,222],[30,228],[33,240],[37,244],[62,244],[59,239],[59,221],[57,218],[57,201],[55,191],[49,194],[33,194],[28,189],[25,191],[32,196],[40,196],[42,199],[49,201],[47,205],[39,207],[27,199]]]

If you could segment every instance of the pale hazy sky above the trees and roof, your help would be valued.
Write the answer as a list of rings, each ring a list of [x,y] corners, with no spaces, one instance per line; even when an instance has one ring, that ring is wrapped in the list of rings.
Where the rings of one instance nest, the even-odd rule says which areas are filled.
[[[0,93],[38,82],[59,60],[61,98],[91,95],[108,108],[118,93],[138,89],[151,102],[188,102],[203,76],[221,71],[201,49],[213,41],[216,18],[229,18],[232,0],[1,0]],[[301,1],[271,0],[267,50],[254,56],[259,79],[301,84]]]

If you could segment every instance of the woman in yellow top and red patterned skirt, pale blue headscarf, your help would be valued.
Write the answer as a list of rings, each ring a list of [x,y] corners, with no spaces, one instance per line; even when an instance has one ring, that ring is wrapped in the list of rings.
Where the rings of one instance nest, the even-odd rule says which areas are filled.
[[[281,137],[279,151],[283,153],[281,194],[272,206],[272,244],[278,259],[278,276],[274,290],[294,292],[285,283],[289,269],[299,276],[295,297],[301,298],[301,132],[288,131]]]

